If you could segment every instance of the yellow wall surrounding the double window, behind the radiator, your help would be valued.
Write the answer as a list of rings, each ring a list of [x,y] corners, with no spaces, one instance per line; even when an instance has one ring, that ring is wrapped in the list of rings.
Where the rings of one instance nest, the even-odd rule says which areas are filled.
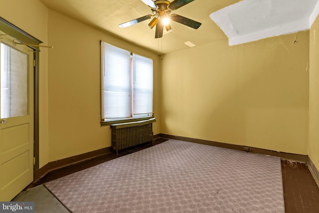
[[[154,112],[159,118],[156,53],[124,42],[49,9],[49,161],[111,146],[109,126],[101,127],[100,40],[154,59]],[[160,133],[160,120],[153,125]]]

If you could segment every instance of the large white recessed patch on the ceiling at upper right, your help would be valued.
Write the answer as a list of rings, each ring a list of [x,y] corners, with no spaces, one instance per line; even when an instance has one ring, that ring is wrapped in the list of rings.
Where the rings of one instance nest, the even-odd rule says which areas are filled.
[[[209,17],[227,35],[229,45],[236,45],[310,29],[318,15],[317,3],[318,0],[242,0]]]

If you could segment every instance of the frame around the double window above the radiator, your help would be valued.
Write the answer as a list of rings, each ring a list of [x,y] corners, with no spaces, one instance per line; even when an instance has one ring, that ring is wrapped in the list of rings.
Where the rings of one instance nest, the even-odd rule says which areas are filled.
[[[121,117],[121,118],[106,118],[105,116],[105,113],[104,113],[104,97],[105,95],[103,93],[106,92],[106,90],[104,90],[104,81],[106,81],[106,77],[105,77],[105,72],[106,72],[106,60],[105,60],[105,45],[110,45],[112,47],[115,47],[115,48],[119,48],[123,51],[128,51],[128,50],[125,50],[123,48],[120,48],[120,47],[117,47],[117,46],[114,46],[112,44],[109,44],[103,40],[101,40],[101,124],[102,125],[109,125],[109,124],[116,124],[116,123],[126,123],[126,122],[133,122],[133,121],[140,121],[140,120],[147,120],[147,119],[150,119],[150,118],[154,118],[154,113],[153,113],[153,102],[154,102],[154,98],[153,98],[153,94],[154,94],[154,82],[153,82],[153,76],[154,76],[154,60],[152,58],[149,58],[149,57],[145,57],[145,56],[142,56],[142,55],[139,55],[139,54],[136,54],[134,52],[131,52],[131,51],[128,51],[130,53],[130,97],[131,97],[131,100],[130,100],[130,110],[131,110],[131,113],[129,116],[126,116],[126,117]],[[151,85],[151,89],[152,89],[152,100],[149,101],[149,104],[151,104],[151,109],[150,112],[148,113],[143,113],[143,114],[135,114],[134,113],[134,107],[133,107],[133,100],[134,100],[134,75],[135,75],[135,69],[136,69],[136,66],[135,66],[135,56],[138,56],[138,57],[143,57],[145,59],[150,59],[150,62],[152,61],[152,74],[150,78],[152,78],[152,85]],[[150,86],[150,85],[149,85]],[[150,103],[151,102],[151,103]]]

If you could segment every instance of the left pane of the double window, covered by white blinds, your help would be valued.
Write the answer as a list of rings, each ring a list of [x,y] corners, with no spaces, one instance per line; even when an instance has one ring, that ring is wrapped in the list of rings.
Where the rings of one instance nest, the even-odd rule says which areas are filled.
[[[131,53],[102,45],[102,118],[131,117]]]

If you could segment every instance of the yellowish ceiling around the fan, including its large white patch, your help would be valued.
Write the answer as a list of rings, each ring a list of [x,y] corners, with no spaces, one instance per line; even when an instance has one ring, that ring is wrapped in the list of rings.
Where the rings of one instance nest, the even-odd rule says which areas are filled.
[[[311,15],[314,16],[313,11],[318,2],[318,0],[194,0],[174,10],[174,13],[201,22],[202,25],[198,29],[193,29],[172,21],[172,31],[164,32],[162,38],[156,39],[155,29],[148,26],[150,20],[126,28],[118,26],[120,23],[152,14],[151,8],[142,0],[40,1],[50,9],[160,53],[192,48],[184,44],[187,41],[196,46],[228,39],[228,37],[230,41],[234,41],[234,43],[230,42],[231,44],[247,42],[248,34],[258,34],[263,30],[278,28],[278,24],[285,26],[299,20],[303,22],[305,18],[309,20]],[[217,15],[211,15],[212,19],[215,18],[213,21],[210,14],[216,11]],[[289,27],[288,31],[284,30],[285,27],[279,28],[281,29],[279,34],[291,31]],[[301,28],[303,27],[297,27],[293,31],[302,30]],[[259,34],[265,34],[266,37],[274,36],[267,33]],[[237,39],[245,38],[238,42],[234,39],[236,37]],[[257,39],[261,38],[257,37]],[[253,39],[255,39],[254,36]]]

